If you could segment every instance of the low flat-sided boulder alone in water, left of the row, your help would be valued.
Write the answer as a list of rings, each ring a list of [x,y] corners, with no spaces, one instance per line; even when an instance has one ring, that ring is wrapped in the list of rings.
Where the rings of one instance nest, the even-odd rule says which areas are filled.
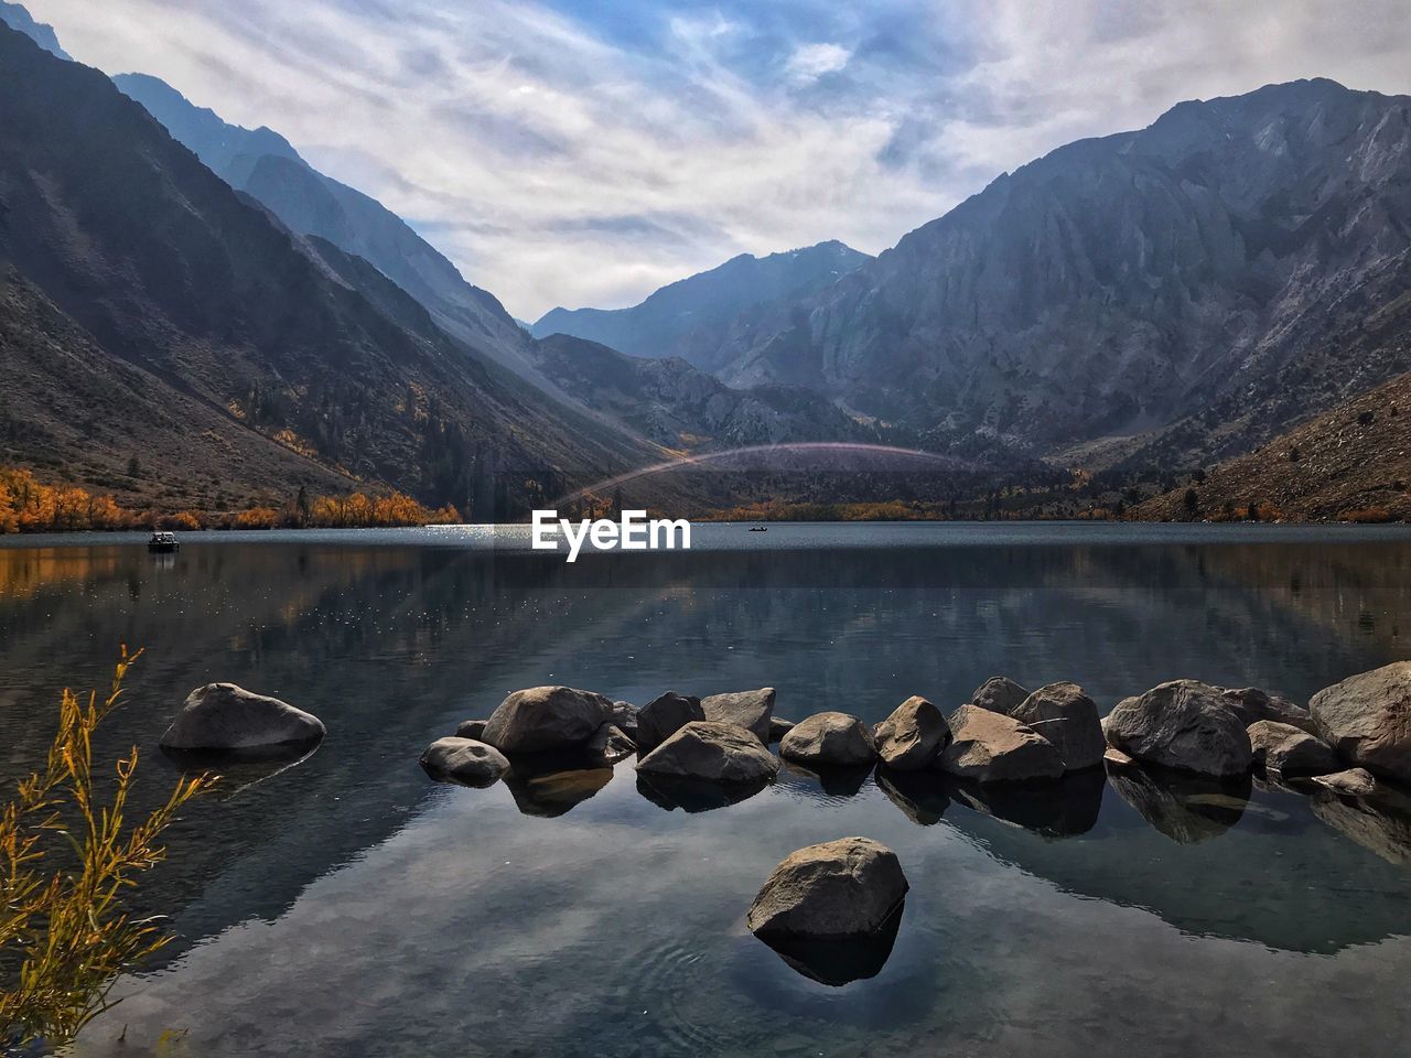
[[[323,721],[278,698],[233,683],[198,687],[166,728],[166,749],[271,749],[306,746],[326,734]]]

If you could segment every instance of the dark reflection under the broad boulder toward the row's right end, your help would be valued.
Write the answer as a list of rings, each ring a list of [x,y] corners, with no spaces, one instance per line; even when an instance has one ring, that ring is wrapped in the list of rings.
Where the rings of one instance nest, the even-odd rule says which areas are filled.
[[[1216,838],[1235,827],[1249,805],[1250,777],[1215,779],[1141,766],[1110,769],[1112,789],[1143,820],[1181,845]]]

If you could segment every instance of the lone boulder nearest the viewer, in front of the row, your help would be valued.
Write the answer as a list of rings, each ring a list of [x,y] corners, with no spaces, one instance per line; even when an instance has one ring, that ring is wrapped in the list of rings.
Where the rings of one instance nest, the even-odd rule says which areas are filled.
[[[785,858],[751,904],[746,923],[763,938],[866,935],[893,916],[906,890],[892,849],[869,838],[840,838]]]

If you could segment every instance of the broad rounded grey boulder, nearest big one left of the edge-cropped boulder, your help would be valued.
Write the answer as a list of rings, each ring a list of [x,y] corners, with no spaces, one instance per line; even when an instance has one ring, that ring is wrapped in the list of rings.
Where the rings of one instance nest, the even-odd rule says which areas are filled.
[[[1219,687],[1173,680],[1125,698],[1108,715],[1108,745],[1163,767],[1213,776],[1245,774],[1253,760],[1245,725]]]

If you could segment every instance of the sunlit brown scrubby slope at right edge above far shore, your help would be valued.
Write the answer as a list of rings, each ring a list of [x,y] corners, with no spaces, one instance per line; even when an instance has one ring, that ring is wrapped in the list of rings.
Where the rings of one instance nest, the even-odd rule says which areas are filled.
[[[1411,518],[1411,374],[1211,468],[1134,511],[1150,521]]]

